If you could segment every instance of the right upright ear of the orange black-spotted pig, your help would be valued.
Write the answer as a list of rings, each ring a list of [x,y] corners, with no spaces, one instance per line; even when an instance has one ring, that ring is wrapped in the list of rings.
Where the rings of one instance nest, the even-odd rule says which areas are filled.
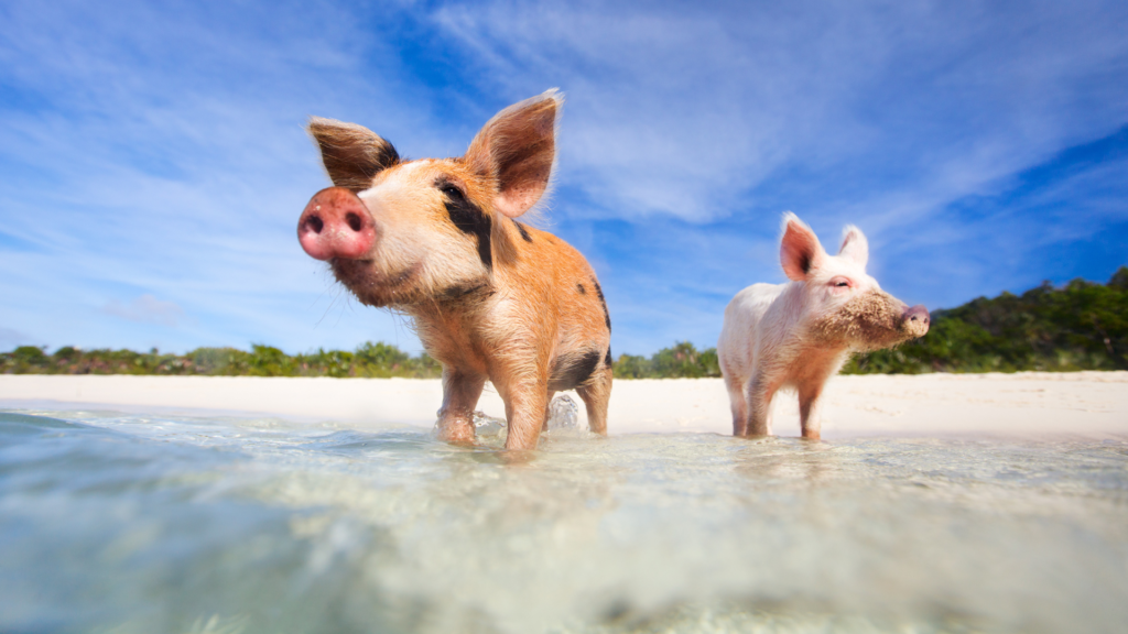
[[[514,104],[494,115],[466,151],[470,169],[496,180],[494,206],[510,218],[529,211],[548,190],[563,105],[555,88]]]

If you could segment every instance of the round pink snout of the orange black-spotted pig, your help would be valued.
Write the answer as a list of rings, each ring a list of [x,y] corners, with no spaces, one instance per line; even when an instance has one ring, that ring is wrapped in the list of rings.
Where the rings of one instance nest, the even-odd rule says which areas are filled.
[[[358,259],[376,243],[376,222],[352,191],[328,187],[314,194],[301,212],[298,241],[317,259]]]

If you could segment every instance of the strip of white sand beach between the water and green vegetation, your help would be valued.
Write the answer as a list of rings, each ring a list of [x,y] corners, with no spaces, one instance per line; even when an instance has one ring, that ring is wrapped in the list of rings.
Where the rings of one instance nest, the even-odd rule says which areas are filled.
[[[1128,372],[836,377],[823,398],[825,438],[1128,437]],[[441,400],[437,379],[0,376],[0,408],[268,415],[356,428],[430,428]],[[478,408],[504,414],[488,386]],[[773,431],[797,435],[797,410],[793,394],[781,394]],[[731,424],[720,379],[615,382],[610,433],[728,434]]]

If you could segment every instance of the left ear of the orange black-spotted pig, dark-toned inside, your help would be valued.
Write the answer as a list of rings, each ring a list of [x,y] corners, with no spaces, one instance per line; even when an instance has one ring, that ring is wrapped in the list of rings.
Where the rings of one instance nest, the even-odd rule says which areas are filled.
[[[309,120],[309,134],[321,149],[321,162],[337,187],[367,190],[379,171],[399,162],[391,143],[363,125],[318,116]]]

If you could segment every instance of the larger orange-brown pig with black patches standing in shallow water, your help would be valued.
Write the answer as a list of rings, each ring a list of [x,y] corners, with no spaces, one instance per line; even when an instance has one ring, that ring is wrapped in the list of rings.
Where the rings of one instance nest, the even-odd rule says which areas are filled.
[[[440,439],[474,442],[486,380],[505,403],[505,448],[537,446],[558,390],[575,389],[607,433],[611,319],[594,271],[517,219],[545,199],[563,96],[548,90],[491,118],[459,158],[406,160],[352,123],[309,123],[333,186],[309,201],[298,239],[367,306],[405,314],[442,363]]]

